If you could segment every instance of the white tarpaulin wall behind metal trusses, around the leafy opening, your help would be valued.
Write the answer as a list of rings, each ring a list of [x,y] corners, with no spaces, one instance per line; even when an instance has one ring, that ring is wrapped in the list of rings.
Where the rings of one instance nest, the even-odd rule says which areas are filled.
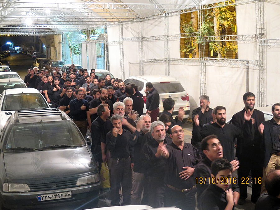
[[[265,4],[266,38],[279,39],[280,34],[280,5],[273,2]],[[236,6],[237,35],[256,35],[256,7],[255,3]],[[269,20],[269,21],[268,21]],[[168,30],[164,30],[164,19],[158,18],[142,22],[142,31],[139,30],[140,23],[123,24],[123,35],[119,37],[119,26],[108,27],[108,41],[110,54],[110,71],[115,77],[122,77],[120,63],[119,41],[120,38],[151,37],[168,34],[180,34],[180,16],[168,17]],[[140,34],[140,31],[142,34]],[[140,75],[140,42],[135,40],[123,40],[124,49],[124,77]],[[143,73],[166,74],[165,63],[153,63],[152,59],[165,58],[165,41],[163,39],[142,41]],[[238,59],[257,60],[259,46],[256,40],[238,41]],[[265,46],[265,104],[280,101],[279,94],[273,90],[279,87],[280,45],[273,47]],[[169,58],[180,58],[180,40],[169,40]],[[178,79],[188,94],[198,103],[200,96],[200,74],[199,63],[170,62],[170,76]],[[257,96],[258,75],[257,67],[249,66],[249,91]],[[122,79],[125,79],[122,78]],[[231,65],[230,67],[219,66],[219,64],[206,65],[206,88],[210,97],[211,107],[223,105],[227,108],[227,114],[233,115],[244,107],[242,96],[246,92],[246,66]],[[258,98],[257,98],[258,100]],[[193,106],[197,106],[194,103]]]

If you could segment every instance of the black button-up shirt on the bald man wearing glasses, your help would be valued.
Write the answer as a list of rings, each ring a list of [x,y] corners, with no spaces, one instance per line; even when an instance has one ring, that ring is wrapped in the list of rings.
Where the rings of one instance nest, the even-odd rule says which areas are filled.
[[[194,175],[184,180],[180,177],[180,172],[184,171],[182,167],[189,166],[195,168],[202,160],[198,149],[189,143],[184,143],[183,150],[173,142],[166,146],[169,151],[169,158],[165,166],[165,183],[178,189],[190,189],[195,184]]]

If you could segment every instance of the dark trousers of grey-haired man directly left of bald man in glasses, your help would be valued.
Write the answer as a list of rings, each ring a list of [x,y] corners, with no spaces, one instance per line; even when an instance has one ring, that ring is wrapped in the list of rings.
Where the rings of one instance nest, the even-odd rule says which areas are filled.
[[[149,206],[152,208],[163,207],[165,188],[163,180],[149,177]]]

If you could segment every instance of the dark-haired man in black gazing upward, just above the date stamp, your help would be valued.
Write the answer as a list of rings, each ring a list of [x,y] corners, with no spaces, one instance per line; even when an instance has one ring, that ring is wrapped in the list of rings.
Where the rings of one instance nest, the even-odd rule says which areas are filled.
[[[197,203],[201,203],[201,195],[210,185],[209,179],[211,179],[211,163],[214,160],[223,158],[223,147],[221,142],[217,139],[217,136],[210,135],[201,141],[201,149],[205,155],[203,160],[196,165],[194,171],[194,178],[196,179],[196,189],[197,189]],[[239,168],[239,162],[237,160],[231,161],[233,171]],[[234,177],[236,180],[236,177]],[[207,180],[204,182],[204,180]],[[239,186],[238,183],[232,182],[233,199],[235,205],[237,205],[239,199]],[[199,208],[199,205],[198,205]]]

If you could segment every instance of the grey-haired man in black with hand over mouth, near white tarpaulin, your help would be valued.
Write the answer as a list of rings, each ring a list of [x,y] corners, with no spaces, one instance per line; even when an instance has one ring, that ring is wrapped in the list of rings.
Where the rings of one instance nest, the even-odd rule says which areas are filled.
[[[192,111],[192,120],[193,120],[193,131],[191,143],[196,147],[203,157],[203,152],[200,148],[201,138],[200,132],[204,124],[208,124],[213,121],[212,118],[212,109],[209,107],[210,99],[209,96],[202,95],[199,96],[199,107]]]

